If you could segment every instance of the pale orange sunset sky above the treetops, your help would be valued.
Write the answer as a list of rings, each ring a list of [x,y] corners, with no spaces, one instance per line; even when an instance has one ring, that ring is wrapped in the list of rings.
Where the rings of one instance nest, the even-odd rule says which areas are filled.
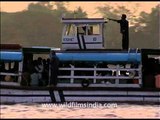
[[[5,12],[18,12],[18,11],[22,11],[22,10],[27,10],[27,6],[30,3],[36,3],[35,1],[29,1],[29,2],[20,2],[20,1],[14,1],[14,2],[0,2],[0,8],[1,11],[5,11]],[[68,2],[68,4],[66,4],[67,8],[69,10],[74,10],[76,8],[78,8],[79,6],[82,7],[82,9],[84,11],[86,11],[88,13],[88,17],[101,17],[100,14],[96,13],[96,7],[98,6],[104,6],[105,4],[109,4],[112,5],[114,7],[116,7],[117,5],[124,5],[126,6],[126,8],[133,10],[136,8],[136,5],[138,5],[138,9],[136,9],[136,13],[138,14],[141,11],[145,11],[145,12],[150,12],[152,7],[155,7],[156,5],[160,4],[160,2],[158,1],[141,1],[141,2],[134,2],[134,1],[117,1],[117,2],[113,2],[113,1],[89,1],[89,2],[81,2],[81,1],[70,1]]]

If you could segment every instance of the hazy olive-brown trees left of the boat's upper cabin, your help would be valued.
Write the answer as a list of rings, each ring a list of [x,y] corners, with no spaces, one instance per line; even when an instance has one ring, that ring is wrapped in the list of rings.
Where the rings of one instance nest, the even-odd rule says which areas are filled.
[[[27,10],[6,13],[1,12],[1,43],[17,43],[23,46],[61,47],[61,16],[87,17],[85,11],[78,8],[69,11],[64,2],[31,3]]]

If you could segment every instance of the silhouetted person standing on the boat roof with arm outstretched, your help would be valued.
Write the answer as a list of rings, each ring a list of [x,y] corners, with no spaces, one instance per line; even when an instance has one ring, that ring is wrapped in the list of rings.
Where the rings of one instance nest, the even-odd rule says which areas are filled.
[[[128,50],[129,47],[129,22],[126,20],[127,16],[122,14],[120,20],[111,19],[109,20],[115,21],[120,24],[120,32],[122,34],[122,49]]]

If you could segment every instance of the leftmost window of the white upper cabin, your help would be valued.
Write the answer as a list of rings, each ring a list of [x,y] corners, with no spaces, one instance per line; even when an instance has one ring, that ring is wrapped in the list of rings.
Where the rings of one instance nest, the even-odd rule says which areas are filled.
[[[69,24],[66,26],[66,32],[65,35],[67,36],[75,36],[76,34],[76,27],[75,25]]]

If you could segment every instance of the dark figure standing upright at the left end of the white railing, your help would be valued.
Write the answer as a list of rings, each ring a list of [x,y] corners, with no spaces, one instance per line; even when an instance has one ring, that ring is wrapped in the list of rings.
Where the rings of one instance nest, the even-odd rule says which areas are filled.
[[[52,58],[51,58],[51,78],[49,82],[49,86],[56,86],[58,79],[58,68],[59,68],[59,59],[56,56],[56,53],[52,52]]]

